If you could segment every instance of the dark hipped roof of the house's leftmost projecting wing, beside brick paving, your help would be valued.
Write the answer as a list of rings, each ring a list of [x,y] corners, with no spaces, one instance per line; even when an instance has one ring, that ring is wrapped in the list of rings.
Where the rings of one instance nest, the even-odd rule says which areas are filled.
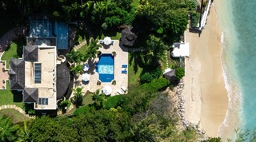
[[[25,61],[23,59],[10,59],[10,89],[24,89],[25,87]]]

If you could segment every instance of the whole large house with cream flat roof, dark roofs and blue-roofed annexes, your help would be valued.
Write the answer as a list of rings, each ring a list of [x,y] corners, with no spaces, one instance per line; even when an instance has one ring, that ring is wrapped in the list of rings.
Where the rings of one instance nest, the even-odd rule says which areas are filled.
[[[54,29],[53,29],[54,27]],[[23,102],[36,110],[56,110],[70,84],[70,69],[58,49],[68,49],[67,26],[43,14],[30,19],[22,58],[10,59],[10,89],[22,91]]]

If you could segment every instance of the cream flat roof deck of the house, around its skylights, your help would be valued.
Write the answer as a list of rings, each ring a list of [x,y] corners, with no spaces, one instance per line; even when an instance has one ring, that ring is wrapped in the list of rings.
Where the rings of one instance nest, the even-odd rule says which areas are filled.
[[[41,64],[41,77],[39,77],[39,83],[35,81],[36,64]],[[38,101],[38,104],[35,104],[35,109],[56,109],[57,101],[55,76],[56,46],[38,46],[38,61],[25,62],[25,86],[29,88],[38,88],[38,99],[47,99],[47,103]]]

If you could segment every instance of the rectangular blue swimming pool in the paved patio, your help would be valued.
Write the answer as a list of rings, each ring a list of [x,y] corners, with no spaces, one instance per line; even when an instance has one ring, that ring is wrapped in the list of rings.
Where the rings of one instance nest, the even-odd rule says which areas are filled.
[[[111,82],[114,80],[114,57],[109,54],[102,54],[96,65],[99,80],[102,82]]]

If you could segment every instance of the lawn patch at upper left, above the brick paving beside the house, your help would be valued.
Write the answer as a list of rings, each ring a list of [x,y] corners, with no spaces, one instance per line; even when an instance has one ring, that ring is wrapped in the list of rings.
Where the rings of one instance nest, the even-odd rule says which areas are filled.
[[[7,69],[9,69],[10,67],[11,58],[22,57],[23,45],[26,45],[26,39],[22,37],[15,39],[10,45],[8,45],[5,53],[2,54],[2,58],[1,58],[3,61],[6,61]]]

